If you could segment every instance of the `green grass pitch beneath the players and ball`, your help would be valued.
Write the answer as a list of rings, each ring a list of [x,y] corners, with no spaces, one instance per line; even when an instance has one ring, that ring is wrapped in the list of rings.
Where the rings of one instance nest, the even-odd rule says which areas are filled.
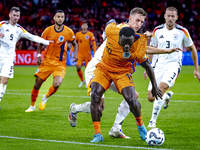
[[[8,82],[6,94],[0,103],[0,149],[200,149],[200,83],[194,78],[193,66],[182,67],[172,88],[172,101],[158,116],[156,125],[163,130],[166,138],[164,144],[159,147],[150,147],[140,139],[131,113],[122,126],[123,132],[131,139],[113,139],[108,136],[118,106],[123,100],[121,95],[111,90],[105,93],[105,110],[101,118],[104,142],[90,145],[89,141],[94,135],[91,115],[79,113],[78,123],[74,128],[68,122],[71,103],[90,101],[85,86],[78,88],[80,79],[76,68],[72,66],[67,68],[63,83],[49,98],[46,108],[40,111],[39,104],[52,84],[52,76],[41,87],[36,110],[25,113],[30,106],[30,94],[35,83],[33,74],[36,69],[37,67],[16,66],[14,78]],[[144,69],[138,66],[133,80],[139,92],[142,118],[147,127],[153,103],[147,100],[148,81],[144,80],[143,72]]]

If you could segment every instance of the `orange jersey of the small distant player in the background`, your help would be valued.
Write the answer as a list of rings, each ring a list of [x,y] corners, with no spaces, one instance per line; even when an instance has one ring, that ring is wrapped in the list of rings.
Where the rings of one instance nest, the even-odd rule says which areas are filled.
[[[96,41],[94,34],[90,31],[76,33],[76,41],[78,43],[78,57],[91,57],[90,42],[92,42],[94,53],[96,51]]]

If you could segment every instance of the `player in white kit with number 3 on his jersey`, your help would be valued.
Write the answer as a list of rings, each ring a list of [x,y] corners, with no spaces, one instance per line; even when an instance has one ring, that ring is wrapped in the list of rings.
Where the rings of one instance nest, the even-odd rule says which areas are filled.
[[[187,47],[192,54],[194,62],[194,77],[197,77],[200,82],[199,65],[197,50],[193,44],[193,41],[186,28],[176,24],[178,19],[178,11],[175,7],[168,7],[165,11],[165,24],[157,26],[153,31],[153,37],[150,45],[162,49],[170,49],[173,47],[179,47],[183,49],[183,44]],[[175,83],[176,78],[179,75],[182,66],[182,52],[174,52],[171,54],[157,55],[155,60],[155,78],[159,85],[159,89],[162,91],[162,99],[155,98],[151,94],[151,83],[148,86],[148,100],[153,102],[152,117],[150,119],[148,127],[156,127],[156,120],[163,106],[166,109],[169,105],[170,98],[173,95],[172,91],[165,93],[168,89],[171,89]],[[149,57],[151,61],[151,56]],[[145,78],[146,78],[146,74]]]

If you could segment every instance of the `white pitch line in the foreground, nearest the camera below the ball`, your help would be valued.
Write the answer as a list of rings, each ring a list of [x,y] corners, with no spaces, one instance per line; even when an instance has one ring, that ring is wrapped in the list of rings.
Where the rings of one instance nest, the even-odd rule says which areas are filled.
[[[30,140],[30,141],[42,141],[42,142],[54,142],[54,143],[68,143],[68,144],[78,144],[78,145],[92,145],[92,146],[101,146],[101,147],[132,148],[132,149],[150,149],[150,150],[171,150],[171,149],[159,149],[159,148],[149,148],[149,147],[104,145],[104,144],[92,144],[92,143],[71,142],[71,141],[32,139],[32,138],[21,138],[21,137],[12,137],[12,136],[3,136],[3,135],[0,136],[0,138],[17,139],[17,140]]]

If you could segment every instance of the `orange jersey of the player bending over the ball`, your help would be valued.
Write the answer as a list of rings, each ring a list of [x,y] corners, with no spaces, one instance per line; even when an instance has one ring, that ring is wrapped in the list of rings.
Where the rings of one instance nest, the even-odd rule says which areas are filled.
[[[122,26],[121,26],[122,27]],[[104,49],[102,60],[97,67],[103,67],[108,72],[124,73],[133,72],[132,63],[137,61],[139,64],[147,60],[147,38],[142,34],[135,34],[135,40],[131,46],[129,58],[123,56],[123,48],[119,45],[119,31],[121,27],[117,27],[115,23],[109,24],[105,33],[107,36],[107,43]]]

